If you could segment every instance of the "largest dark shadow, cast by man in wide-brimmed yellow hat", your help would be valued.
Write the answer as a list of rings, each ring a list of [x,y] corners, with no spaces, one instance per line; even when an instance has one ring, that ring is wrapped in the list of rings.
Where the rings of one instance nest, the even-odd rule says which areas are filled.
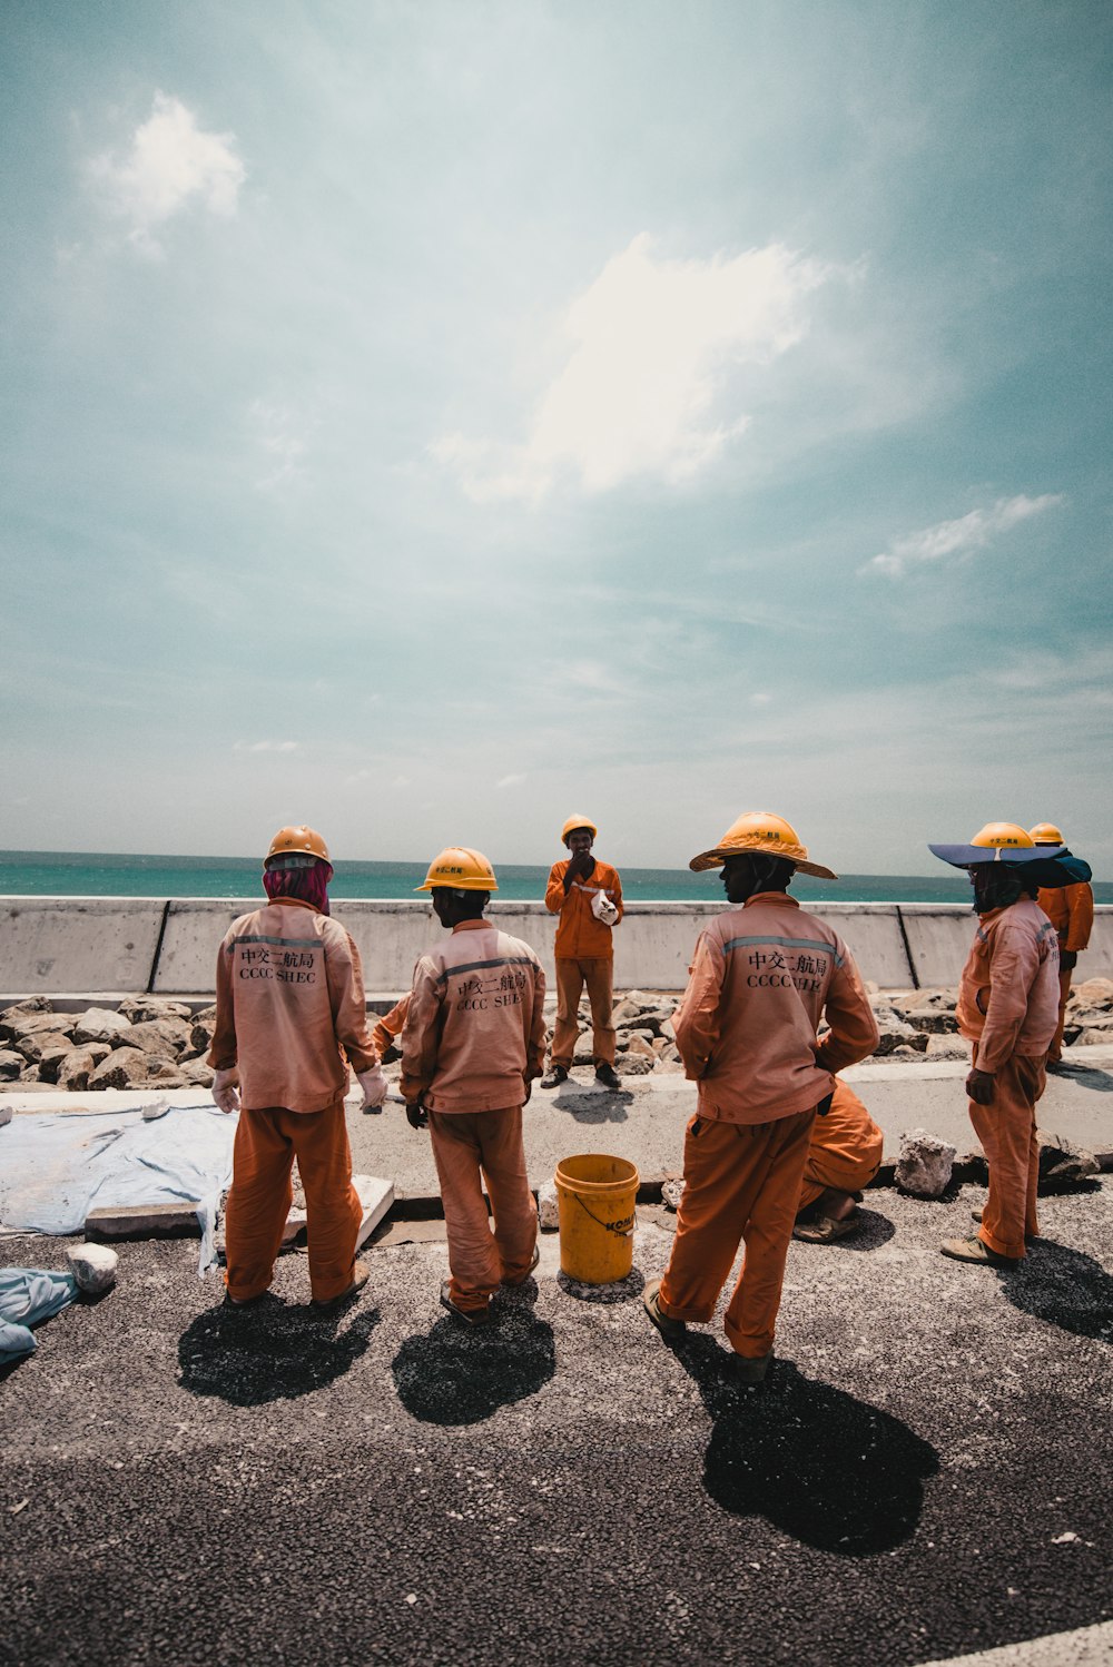
[[[900,1419],[773,1360],[760,1389],[731,1375],[711,1337],[676,1359],[715,1419],[703,1485],[735,1515],[765,1517],[803,1545],[873,1557],[910,1539],[940,1457]]]

